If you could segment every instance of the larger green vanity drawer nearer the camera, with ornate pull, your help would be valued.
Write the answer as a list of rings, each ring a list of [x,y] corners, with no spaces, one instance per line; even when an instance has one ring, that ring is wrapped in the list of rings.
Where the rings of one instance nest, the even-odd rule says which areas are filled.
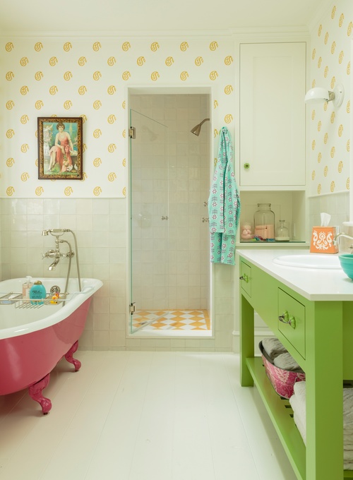
[[[277,328],[305,359],[305,306],[280,288]]]

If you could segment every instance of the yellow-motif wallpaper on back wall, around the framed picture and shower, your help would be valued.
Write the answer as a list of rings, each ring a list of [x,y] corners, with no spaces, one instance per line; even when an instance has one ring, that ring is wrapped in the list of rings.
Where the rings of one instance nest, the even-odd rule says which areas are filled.
[[[232,40],[7,38],[0,64],[2,198],[124,198],[128,86],[210,86],[214,136],[234,132]],[[37,178],[38,116],[83,118],[82,181]]]

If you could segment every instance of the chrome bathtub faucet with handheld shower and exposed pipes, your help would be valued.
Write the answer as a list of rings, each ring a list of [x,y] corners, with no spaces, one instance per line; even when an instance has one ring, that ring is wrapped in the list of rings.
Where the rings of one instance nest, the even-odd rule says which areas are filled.
[[[73,235],[73,241],[75,242],[75,251],[71,248],[71,244],[68,243],[67,240],[59,239],[59,236],[64,235],[66,233],[71,233]],[[48,270],[52,271],[55,270],[56,265],[58,265],[60,258],[68,258],[68,272],[66,276],[66,286],[65,292],[68,289],[68,279],[70,278],[70,270],[71,270],[71,258],[76,254],[76,268],[77,268],[77,276],[78,276],[78,289],[81,291],[81,277],[80,277],[80,265],[78,264],[78,248],[77,248],[77,241],[76,235],[71,229],[48,229],[42,231],[42,236],[47,236],[51,234],[55,237],[55,249],[50,249],[46,253],[42,254],[42,258],[54,258],[54,261],[51,265],[49,265]],[[68,251],[63,253],[59,249],[59,244],[68,244]],[[76,252],[76,253],[75,253]]]

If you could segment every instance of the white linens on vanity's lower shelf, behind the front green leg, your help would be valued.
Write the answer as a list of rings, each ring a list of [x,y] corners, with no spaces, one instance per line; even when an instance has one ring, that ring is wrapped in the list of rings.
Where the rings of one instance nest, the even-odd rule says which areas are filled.
[[[306,382],[295,383],[289,403],[294,422],[306,444]],[[345,470],[353,470],[353,388],[343,389],[343,461]]]

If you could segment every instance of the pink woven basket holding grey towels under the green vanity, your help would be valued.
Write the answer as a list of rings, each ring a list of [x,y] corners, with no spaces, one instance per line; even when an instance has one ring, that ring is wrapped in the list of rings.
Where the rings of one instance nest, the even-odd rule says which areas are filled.
[[[273,388],[278,395],[289,400],[289,398],[293,395],[294,383],[304,381],[305,373],[278,368],[271,362],[270,358],[266,354],[265,350],[263,349],[262,342],[259,343],[258,347],[261,351],[263,366],[265,366],[266,374]]]

